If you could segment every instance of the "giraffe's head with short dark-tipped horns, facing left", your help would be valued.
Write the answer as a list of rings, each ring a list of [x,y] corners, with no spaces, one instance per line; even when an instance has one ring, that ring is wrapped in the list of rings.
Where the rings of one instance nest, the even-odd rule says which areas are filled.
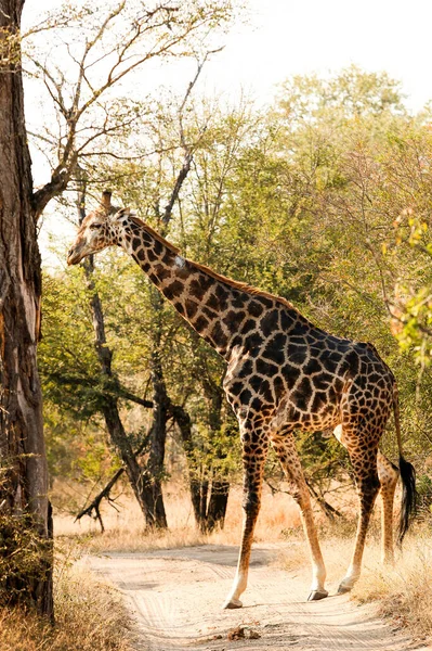
[[[86,256],[117,244],[115,226],[118,209],[112,205],[110,196],[110,192],[104,192],[97,208],[83,218],[67,254],[68,265],[77,265]]]

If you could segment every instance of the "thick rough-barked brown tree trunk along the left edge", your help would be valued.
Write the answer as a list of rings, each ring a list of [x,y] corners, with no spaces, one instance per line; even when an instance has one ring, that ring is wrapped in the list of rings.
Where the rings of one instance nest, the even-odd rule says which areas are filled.
[[[0,0],[0,516],[10,545],[8,522],[23,540],[35,535],[41,553],[31,567],[16,567],[0,590],[8,589],[10,602],[24,597],[52,617],[52,518],[36,360],[41,270],[19,61],[23,4]],[[11,558],[8,542],[4,556]]]

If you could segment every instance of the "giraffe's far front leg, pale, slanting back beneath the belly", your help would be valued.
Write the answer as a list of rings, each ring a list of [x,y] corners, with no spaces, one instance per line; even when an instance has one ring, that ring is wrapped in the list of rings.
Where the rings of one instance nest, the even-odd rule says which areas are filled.
[[[312,559],[312,585],[307,600],[317,601],[318,599],[324,599],[328,595],[324,587],[326,569],[315,528],[309,488],[296,449],[292,433],[289,432],[285,435],[274,437],[272,439],[272,445],[288,480],[290,494],[300,507],[303,528]]]

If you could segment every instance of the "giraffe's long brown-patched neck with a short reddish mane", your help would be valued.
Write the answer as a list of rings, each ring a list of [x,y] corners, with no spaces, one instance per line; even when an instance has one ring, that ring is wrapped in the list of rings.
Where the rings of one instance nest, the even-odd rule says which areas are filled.
[[[230,358],[236,345],[253,336],[257,319],[272,298],[252,296],[191,260],[134,217],[122,219],[118,244],[140,265],[182,317]]]

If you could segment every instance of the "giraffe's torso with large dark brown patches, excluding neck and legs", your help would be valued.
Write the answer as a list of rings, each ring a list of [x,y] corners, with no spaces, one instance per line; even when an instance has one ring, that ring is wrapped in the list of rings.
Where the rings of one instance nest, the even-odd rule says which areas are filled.
[[[344,413],[367,418],[380,404],[385,411],[393,382],[371,344],[328,334],[276,304],[233,350],[224,388],[240,418],[316,431]]]

